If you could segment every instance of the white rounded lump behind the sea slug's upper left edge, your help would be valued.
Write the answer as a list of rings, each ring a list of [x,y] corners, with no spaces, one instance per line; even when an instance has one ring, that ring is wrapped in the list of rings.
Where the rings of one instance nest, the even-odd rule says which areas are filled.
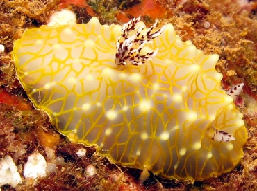
[[[69,21],[76,22],[76,15],[71,10],[63,9],[51,15],[47,26],[67,25]]]

